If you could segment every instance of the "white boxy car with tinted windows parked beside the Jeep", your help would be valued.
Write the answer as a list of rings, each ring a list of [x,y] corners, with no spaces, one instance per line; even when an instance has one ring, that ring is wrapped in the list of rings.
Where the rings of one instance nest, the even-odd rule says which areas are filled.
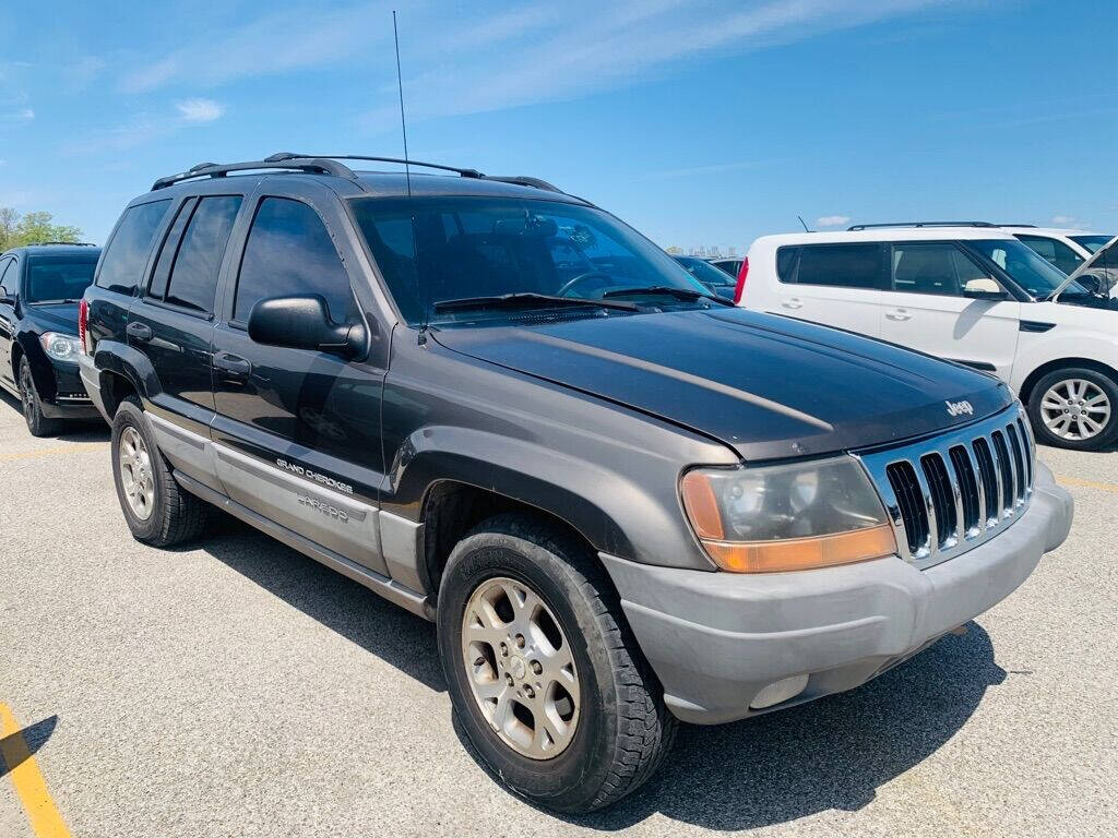
[[[1071,280],[993,226],[875,227],[762,236],[737,299],[995,374],[1038,441],[1118,439],[1118,301]]]

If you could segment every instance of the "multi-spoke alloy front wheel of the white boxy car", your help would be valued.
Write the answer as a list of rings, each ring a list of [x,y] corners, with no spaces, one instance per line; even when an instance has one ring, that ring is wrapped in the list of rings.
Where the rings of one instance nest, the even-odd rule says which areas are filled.
[[[1043,445],[1106,448],[1118,438],[1118,383],[1088,368],[1055,370],[1033,388],[1029,418]]]

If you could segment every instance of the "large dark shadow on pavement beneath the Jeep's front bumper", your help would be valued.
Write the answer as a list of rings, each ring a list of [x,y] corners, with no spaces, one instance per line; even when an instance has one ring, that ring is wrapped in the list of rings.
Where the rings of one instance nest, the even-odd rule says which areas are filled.
[[[968,629],[849,693],[730,725],[683,725],[659,777],[612,809],[569,820],[615,830],[661,812],[738,830],[861,809],[950,740],[1005,679],[989,636]]]

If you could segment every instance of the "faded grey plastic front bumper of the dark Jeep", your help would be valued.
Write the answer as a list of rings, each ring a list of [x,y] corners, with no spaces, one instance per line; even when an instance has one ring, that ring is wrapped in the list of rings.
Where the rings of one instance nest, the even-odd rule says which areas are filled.
[[[1068,537],[1073,504],[1036,465],[1027,511],[928,570],[898,556],[794,573],[657,568],[601,554],[637,642],[685,722],[718,724],[851,689],[1005,599]],[[762,711],[766,686],[807,675]]]

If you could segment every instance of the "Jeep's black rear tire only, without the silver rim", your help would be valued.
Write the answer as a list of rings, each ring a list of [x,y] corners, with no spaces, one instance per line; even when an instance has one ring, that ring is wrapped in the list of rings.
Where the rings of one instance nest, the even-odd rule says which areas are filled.
[[[151,504],[151,514],[146,518],[139,517],[132,511],[122,482],[121,436],[130,428],[134,429],[143,440],[151,464],[154,499]],[[157,547],[168,547],[190,541],[202,532],[209,518],[209,504],[183,491],[174,482],[170,466],[155,445],[154,436],[144,417],[143,404],[135,396],[124,399],[116,409],[116,415],[113,417],[111,450],[116,497],[121,502],[121,511],[124,513],[129,530],[136,541]]]

